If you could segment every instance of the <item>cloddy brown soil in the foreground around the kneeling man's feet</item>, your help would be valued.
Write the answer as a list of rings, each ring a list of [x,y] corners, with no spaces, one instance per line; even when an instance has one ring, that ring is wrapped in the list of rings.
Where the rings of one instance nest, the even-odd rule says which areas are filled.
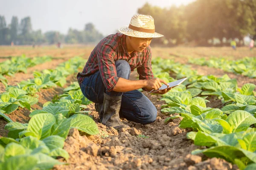
[[[145,94],[145,93],[144,93]],[[141,125],[122,120],[131,128],[115,130],[99,123],[94,104],[87,110],[92,111],[99,135],[81,136],[76,129],[70,130],[64,149],[70,159],[69,165],[56,166],[54,170],[231,170],[236,166],[222,159],[192,156],[192,150],[201,148],[186,139],[188,130],[180,129],[181,119],[174,119],[168,124],[168,116],[160,113],[163,101],[158,95],[145,94],[157,107],[157,120],[148,125]]]

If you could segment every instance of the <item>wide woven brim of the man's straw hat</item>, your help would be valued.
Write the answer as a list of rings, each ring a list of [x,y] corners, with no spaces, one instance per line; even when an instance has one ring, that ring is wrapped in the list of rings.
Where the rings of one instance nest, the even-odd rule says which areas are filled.
[[[138,38],[158,38],[158,37],[163,37],[162,34],[159,34],[157,32],[154,33],[146,33],[146,32],[140,32],[140,31],[135,31],[128,26],[122,26],[118,29],[119,32],[122,34],[131,36],[131,37],[138,37]]]

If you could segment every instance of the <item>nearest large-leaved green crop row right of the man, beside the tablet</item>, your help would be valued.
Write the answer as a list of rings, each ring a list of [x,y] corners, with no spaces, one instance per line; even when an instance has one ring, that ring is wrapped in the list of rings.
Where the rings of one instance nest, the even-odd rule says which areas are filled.
[[[248,83],[239,89],[236,80],[227,75],[218,78],[198,76],[187,65],[171,60],[157,58],[152,63],[165,63],[153,68],[157,72],[154,74],[156,77],[173,81],[169,71],[175,74],[176,79],[188,77],[184,85],[162,95],[161,100],[166,105],[161,111],[172,115],[165,122],[182,117],[179,127],[192,129],[187,138],[194,140],[195,145],[208,147],[194,150],[192,154],[204,153],[209,157],[223,158],[237,164],[241,170],[255,168],[256,97],[253,91],[256,86]],[[209,101],[204,95],[218,96],[225,106],[221,110],[207,107]]]

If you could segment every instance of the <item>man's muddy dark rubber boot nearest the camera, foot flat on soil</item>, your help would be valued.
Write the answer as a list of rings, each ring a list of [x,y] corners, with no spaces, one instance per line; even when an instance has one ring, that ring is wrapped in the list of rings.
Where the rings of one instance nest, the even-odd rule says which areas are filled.
[[[114,127],[120,129],[122,127],[128,128],[128,125],[123,124],[119,118],[119,111],[121,107],[122,96],[109,96],[104,93],[103,100],[103,119],[102,124],[108,127]]]

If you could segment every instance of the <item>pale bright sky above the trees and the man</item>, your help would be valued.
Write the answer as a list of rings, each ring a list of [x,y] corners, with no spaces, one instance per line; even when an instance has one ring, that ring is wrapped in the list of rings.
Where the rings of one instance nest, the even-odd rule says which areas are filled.
[[[169,8],[195,0],[0,0],[0,15],[10,24],[12,16],[20,20],[30,16],[32,29],[60,31],[84,29],[93,23],[102,34],[113,34],[120,26],[129,25],[131,17],[146,2],[153,6]]]

